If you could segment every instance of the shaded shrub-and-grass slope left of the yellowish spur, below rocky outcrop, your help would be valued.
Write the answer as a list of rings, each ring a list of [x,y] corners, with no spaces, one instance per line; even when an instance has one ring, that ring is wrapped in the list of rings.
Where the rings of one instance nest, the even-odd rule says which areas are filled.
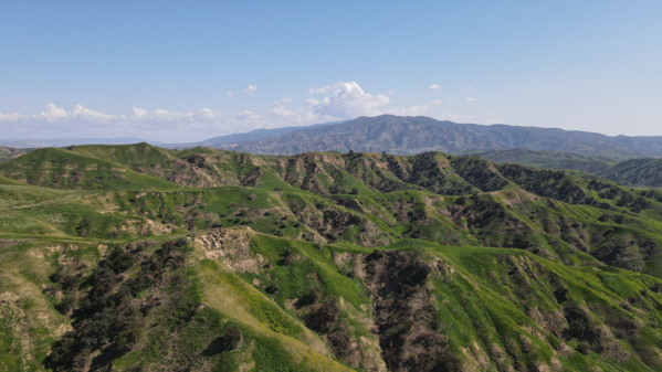
[[[60,307],[66,298],[74,298],[75,305],[63,310],[71,317],[73,330],[51,346],[44,366],[105,371],[137,353],[143,361],[133,370],[157,365],[186,370],[219,362],[224,352],[243,346],[241,328],[223,323],[217,312],[199,302],[196,284],[185,267],[190,251],[186,241],[166,242],[151,254],[149,248],[146,243],[115,246],[88,276],[74,275],[78,287],[62,285],[69,283],[62,279],[71,276],[66,269],[53,274],[71,296],[65,296]],[[162,358],[164,348],[174,354]]]

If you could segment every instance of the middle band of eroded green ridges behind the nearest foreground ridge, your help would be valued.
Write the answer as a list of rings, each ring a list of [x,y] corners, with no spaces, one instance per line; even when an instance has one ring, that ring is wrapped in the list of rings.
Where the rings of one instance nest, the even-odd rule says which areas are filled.
[[[21,215],[32,224],[10,223],[14,231],[129,237],[242,224],[317,243],[379,246],[407,236],[518,247],[572,265],[598,259],[651,275],[662,273],[656,236],[662,193],[597,178],[440,152],[261,157],[208,148],[170,152],[148,145],[81,151],[112,156],[186,185],[221,188],[115,193],[109,199],[91,195],[84,201],[90,206],[80,208],[86,212],[53,216],[62,221],[55,224],[29,215],[28,210],[15,211],[7,219]],[[59,208],[49,208],[49,213]],[[94,208],[124,215],[97,215],[91,212]],[[123,223],[127,215],[135,217]]]

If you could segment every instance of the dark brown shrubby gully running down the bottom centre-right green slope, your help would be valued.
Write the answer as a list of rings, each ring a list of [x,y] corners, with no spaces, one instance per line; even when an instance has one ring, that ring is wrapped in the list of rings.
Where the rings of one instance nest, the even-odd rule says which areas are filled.
[[[364,258],[376,333],[389,371],[460,371],[424,283],[418,251],[375,251]]]

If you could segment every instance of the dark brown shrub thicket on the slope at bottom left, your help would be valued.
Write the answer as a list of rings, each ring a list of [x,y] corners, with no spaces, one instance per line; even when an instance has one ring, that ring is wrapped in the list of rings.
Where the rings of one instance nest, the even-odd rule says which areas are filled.
[[[183,244],[186,241],[167,242],[151,255],[143,253],[146,244],[113,248],[83,280],[81,291],[85,295],[78,307],[73,309],[75,294],[59,304],[63,313],[73,310],[73,330],[52,344],[45,366],[54,371],[84,370],[97,350],[114,354],[128,351],[143,333],[144,317],[156,305],[136,300],[137,295],[158,286],[169,272],[183,267],[183,257],[177,253]],[[136,265],[138,273],[129,278],[127,272]],[[62,268],[51,276],[63,288],[72,288],[70,277]]]

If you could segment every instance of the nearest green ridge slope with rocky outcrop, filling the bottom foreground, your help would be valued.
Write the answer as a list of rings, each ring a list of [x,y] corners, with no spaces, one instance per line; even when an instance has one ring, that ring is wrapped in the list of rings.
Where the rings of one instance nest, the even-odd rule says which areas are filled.
[[[519,249],[318,248],[239,228],[15,242],[0,265],[13,267],[0,283],[11,369],[662,368],[662,280]]]

